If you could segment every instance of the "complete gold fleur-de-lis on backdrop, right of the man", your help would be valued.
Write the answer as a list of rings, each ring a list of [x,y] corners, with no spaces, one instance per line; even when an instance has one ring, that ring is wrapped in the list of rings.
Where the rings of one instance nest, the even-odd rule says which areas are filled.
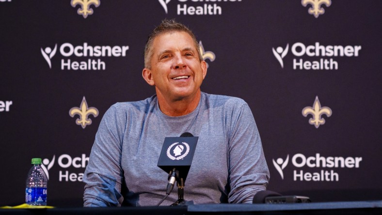
[[[313,118],[309,119],[309,124],[313,124],[316,128],[318,128],[319,125],[325,124],[325,119],[322,119],[321,115],[325,114],[327,117],[332,116],[332,109],[329,107],[321,107],[318,96],[316,96],[313,107],[304,107],[302,109],[302,115],[304,117],[308,116],[308,114],[312,114],[313,116]]]

